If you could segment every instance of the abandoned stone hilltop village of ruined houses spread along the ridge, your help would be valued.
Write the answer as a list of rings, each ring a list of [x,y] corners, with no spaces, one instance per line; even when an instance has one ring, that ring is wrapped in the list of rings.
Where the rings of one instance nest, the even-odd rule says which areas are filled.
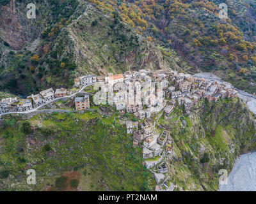
[[[134,113],[136,120],[125,121],[127,135],[132,136],[134,146],[141,147],[143,164],[156,179],[156,191],[172,191],[174,189],[173,184],[170,184],[168,180],[168,166],[165,162],[168,156],[172,154],[173,146],[171,133],[163,130],[159,134],[155,130],[156,121],[152,120],[154,113],[161,113],[156,119],[158,120],[163,114],[170,115],[175,106],[184,105],[184,110],[189,115],[191,107],[195,106],[202,98],[217,101],[220,98],[234,98],[237,95],[237,91],[228,82],[218,83],[163,69],[157,71],[141,69],[118,75],[109,73],[105,77],[86,75],[76,78],[74,82],[74,86],[79,89],[77,92],[67,91],[64,88],[54,91],[50,88],[36,95],[32,94],[26,99],[2,99],[0,101],[0,114],[29,113],[63,98],[74,99],[76,110],[90,110],[90,104],[92,105],[93,102],[97,101],[96,105],[99,105],[104,101],[104,98],[95,96],[97,99],[90,101],[90,93],[83,91],[84,88],[93,84],[101,84],[104,86],[100,92],[104,92],[106,87],[113,87],[113,103],[111,104],[115,106],[120,115],[124,115],[125,112]],[[132,84],[132,94],[136,95],[138,83],[141,84],[139,88],[141,102],[137,100],[137,93],[134,103],[127,103],[127,99],[132,98],[131,90],[127,93],[128,84]],[[159,94],[159,89],[154,91],[156,88],[154,84],[161,84],[162,94]],[[83,97],[76,96],[76,94],[81,93]]]

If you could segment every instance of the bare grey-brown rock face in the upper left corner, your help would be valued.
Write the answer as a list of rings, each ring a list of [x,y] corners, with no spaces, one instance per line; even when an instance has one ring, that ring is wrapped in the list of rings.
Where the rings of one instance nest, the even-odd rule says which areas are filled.
[[[20,8],[26,9],[26,4],[20,4]],[[33,20],[26,18],[20,8],[15,6],[15,0],[0,6],[0,37],[13,50],[20,50],[28,42],[35,40],[39,33],[36,27],[31,25]]]

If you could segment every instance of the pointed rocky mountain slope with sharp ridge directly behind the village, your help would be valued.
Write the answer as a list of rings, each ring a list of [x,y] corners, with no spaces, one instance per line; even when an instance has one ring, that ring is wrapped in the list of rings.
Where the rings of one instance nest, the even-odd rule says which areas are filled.
[[[2,90],[26,95],[46,87],[71,87],[75,77],[86,73],[106,75],[141,68],[181,70],[175,57],[163,56],[163,48],[136,33],[118,13],[106,15],[84,1],[65,2],[74,4],[72,15],[58,17],[56,22],[50,20],[47,29],[40,30],[38,39],[26,48],[13,51],[12,46],[1,45]],[[54,11],[52,18],[61,12]]]

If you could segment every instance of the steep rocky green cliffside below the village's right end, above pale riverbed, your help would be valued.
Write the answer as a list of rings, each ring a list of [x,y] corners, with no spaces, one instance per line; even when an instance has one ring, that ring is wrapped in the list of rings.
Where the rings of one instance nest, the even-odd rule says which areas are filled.
[[[180,119],[173,122],[175,115]],[[168,174],[179,186],[175,191],[218,190],[218,171],[230,171],[237,156],[256,149],[253,118],[234,98],[216,103],[199,101],[189,116],[182,106],[176,106],[168,119],[159,119],[157,124],[169,130],[173,138]]]

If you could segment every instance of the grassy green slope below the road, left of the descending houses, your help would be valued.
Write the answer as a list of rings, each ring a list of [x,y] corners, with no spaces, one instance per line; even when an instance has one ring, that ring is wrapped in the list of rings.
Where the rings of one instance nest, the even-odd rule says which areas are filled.
[[[35,169],[37,178],[32,190],[42,189],[47,184],[55,186],[56,191],[77,185],[88,191],[148,190],[150,173],[142,166],[141,150],[132,146],[125,127],[118,124],[118,120],[110,122],[111,118],[110,123],[104,122],[100,115],[93,114],[94,117],[90,113],[42,114],[26,121],[6,117],[4,129],[0,129],[0,145],[4,150],[0,154],[1,179],[10,173],[9,182],[17,185],[10,187],[9,182],[4,181],[4,189],[31,189],[26,184],[30,163],[29,168]],[[19,127],[19,124],[27,127],[28,122],[33,126],[30,135]],[[6,134],[8,136],[4,136]],[[29,149],[26,148],[28,143]],[[81,180],[67,180],[62,175],[73,169],[81,172]]]

